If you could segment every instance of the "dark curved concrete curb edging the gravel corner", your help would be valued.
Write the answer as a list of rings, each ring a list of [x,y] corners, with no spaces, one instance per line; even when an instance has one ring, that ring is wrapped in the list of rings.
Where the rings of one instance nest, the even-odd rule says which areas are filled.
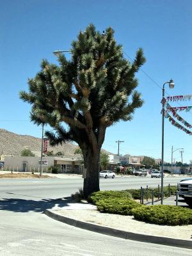
[[[115,236],[123,239],[140,241],[144,243],[155,243],[155,244],[163,244],[167,246],[175,246],[175,247],[192,249],[192,241],[188,241],[188,240],[173,239],[169,237],[149,236],[144,234],[127,232],[123,230],[117,230],[115,228],[104,227],[102,225],[95,225],[89,222],[79,221],[72,218],[68,218],[66,216],[61,216],[51,210],[45,210],[44,214],[46,214],[47,216],[49,216],[54,220],[61,221],[68,225],[72,225],[77,228],[83,228],[86,230],[90,230],[90,231],[108,235],[108,236]]]

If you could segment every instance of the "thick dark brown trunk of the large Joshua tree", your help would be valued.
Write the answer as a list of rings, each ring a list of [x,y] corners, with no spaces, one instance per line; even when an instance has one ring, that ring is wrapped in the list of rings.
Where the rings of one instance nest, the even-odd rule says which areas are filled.
[[[100,170],[100,149],[92,149],[84,152],[84,166],[86,168],[86,178],[83,184],[83,193],[87,198],[95,191],[99,191],[99,170]]]

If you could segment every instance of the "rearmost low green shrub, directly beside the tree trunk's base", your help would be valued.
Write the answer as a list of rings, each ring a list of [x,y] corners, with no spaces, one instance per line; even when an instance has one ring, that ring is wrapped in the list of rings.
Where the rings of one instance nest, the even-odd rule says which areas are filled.
[[[98,191],[92,193],[88,197],[88,201],[92,202],[93,204],[96,204],[99,200],[105,200],[108,198],[132,198],[131,193],[128,191],[122,190],[122,191]]]

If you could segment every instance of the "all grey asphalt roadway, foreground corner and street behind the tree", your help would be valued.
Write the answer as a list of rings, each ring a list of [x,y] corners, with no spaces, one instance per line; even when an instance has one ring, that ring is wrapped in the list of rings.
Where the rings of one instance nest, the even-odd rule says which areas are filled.
[[[171,179],[177,183],[175,178]],[[148,182],[150,179],[145,177],[101,180],[101,188],[139,188],[149,185]],[[70,195],[82,184],[82,179],[0,180],[0,255],[188,256],[191,253],[188,249],[125,241],[88,232],[42,214],[51,198]]]

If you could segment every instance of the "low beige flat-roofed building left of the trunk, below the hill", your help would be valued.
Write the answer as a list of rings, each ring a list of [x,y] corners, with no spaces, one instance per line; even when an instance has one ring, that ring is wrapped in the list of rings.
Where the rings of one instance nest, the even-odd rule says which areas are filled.
[[[7,156],[4,157],[4,170],[18,172],[40,172],[41,157]],[[42,172],[51,172],[52,166],[59,166],[61,173],[82,173],[82,159],[74,157],[48,156],[42,159]]]

